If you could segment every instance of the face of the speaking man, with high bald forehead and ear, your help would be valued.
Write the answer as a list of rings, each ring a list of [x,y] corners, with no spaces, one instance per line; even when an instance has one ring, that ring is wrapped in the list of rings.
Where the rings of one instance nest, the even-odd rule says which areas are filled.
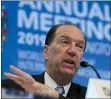
[[[46,71],[50,74],[74,76],[84,52],[83,33],[73,25],[57,28],[51,45],[44,49]]]

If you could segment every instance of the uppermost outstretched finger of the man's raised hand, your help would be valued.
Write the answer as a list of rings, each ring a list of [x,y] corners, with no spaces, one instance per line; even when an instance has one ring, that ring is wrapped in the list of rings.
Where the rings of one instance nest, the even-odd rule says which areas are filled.
[[[21,77],[21,79],[25,82],[25,83],[32,83],[35,80],[27,73],[25,73],[24,71],[14,67],[14,66],[10,66],[11,70],[17,74],[19,77]]]

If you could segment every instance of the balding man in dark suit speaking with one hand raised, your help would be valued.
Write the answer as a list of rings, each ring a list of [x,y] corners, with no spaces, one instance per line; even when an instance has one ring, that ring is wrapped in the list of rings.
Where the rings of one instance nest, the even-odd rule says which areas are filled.
[[[86,38],[77,26],[54,25],[48,31],[43,51],[46,71],[39,76],[30,76],[11,66],[16,75],[5,73],[5,76],[18,85],[13,81],[4,80],[2,86],[23,88],[34,93],[38,99],[84,99],[86,88],[71,81],[80,67],[85,47]]]

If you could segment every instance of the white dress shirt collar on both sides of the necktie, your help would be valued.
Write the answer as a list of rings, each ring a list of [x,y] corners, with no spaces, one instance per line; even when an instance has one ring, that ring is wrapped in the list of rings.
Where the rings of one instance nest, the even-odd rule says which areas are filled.
[[[55,89],[58,86],[56,82],[47,74],[47,72],[45,72],[44,81],[45,81],[45,85],[49,86],[52,89]],[[63,94],[64,97],[67,96],[70,86],[71,86],[71,83],[63,86],[65,90],[65,93]]]

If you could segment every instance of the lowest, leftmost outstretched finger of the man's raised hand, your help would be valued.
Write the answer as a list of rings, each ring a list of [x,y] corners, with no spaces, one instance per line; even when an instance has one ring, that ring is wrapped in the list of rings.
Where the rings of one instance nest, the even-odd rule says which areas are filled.
[[[17,84],[22,84],[22,83],[23,83],[23,81],[22,81],[22,80],[20,79],[20,77],[17,76],[17,75],[14,75],[14,74],[11,74],[11,73],[4,73],[4,75],[5,75],[7,78],[15,81]]]

